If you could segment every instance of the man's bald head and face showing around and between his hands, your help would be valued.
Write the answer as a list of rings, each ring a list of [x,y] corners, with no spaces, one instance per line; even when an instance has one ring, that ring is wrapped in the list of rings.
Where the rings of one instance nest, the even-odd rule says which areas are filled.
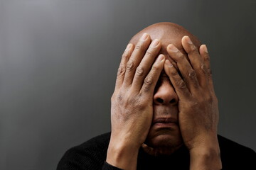
[[[167,60],[170,60],[174,67],[177,68],[176,62],[169,56],[166,48],[168,45],[173,44],[180,50],[183,55],[188,58],[186,51],[183,49],[183,45],[181,44],[181,39],[187,35],[194,45],[199,49],[201,46],[201,42],[196,38],[195,35],[191,34],[183,28],[182,26],[178,26],[176,23],[155,23],[151,26],[144,28],[139,31],[134,37],[130,40],[130,43],[133,45],[137,45],[139,39],[142,37],[144,33],[150,35],[151,41],[158,39],[161,42],[161,50],[159,54],[165,55]],[[189,61],[189,60],[188,60]],[[157,99],[161,98],[163,101],[171,101],[171,98],[178,101],[178,96],[176,95],[174,86],[171,84],[169,77],[166,76],[164,70],[162,70],[161,75],[159,77],[159,81],[157,82],[155,91],[154,91],[154,108],[153,108],[153,119],[157,118],[174,118],[174,120],[178,121],[178,108],[176,104],[166,104],[159,103]],[[157,125],[151,125],[149,130],[149,134],[146,137],[146,141],[144,142],[145,146],[154,148],[157,152],[163,154],[166,150],[169,152],[174,152],[175,149],[181,147],[183,145],[183,140],[181,137],[180,129],[177,126],[173,128],[157,128]],[[145,148],[148,148],[145,147]],[[168,148],[168,149],[166,149]],[[144,149],[146,151],[146,149]],[[150,150],[150,149],[149,149]],[[156,154],[156,152],[154,153]]]

